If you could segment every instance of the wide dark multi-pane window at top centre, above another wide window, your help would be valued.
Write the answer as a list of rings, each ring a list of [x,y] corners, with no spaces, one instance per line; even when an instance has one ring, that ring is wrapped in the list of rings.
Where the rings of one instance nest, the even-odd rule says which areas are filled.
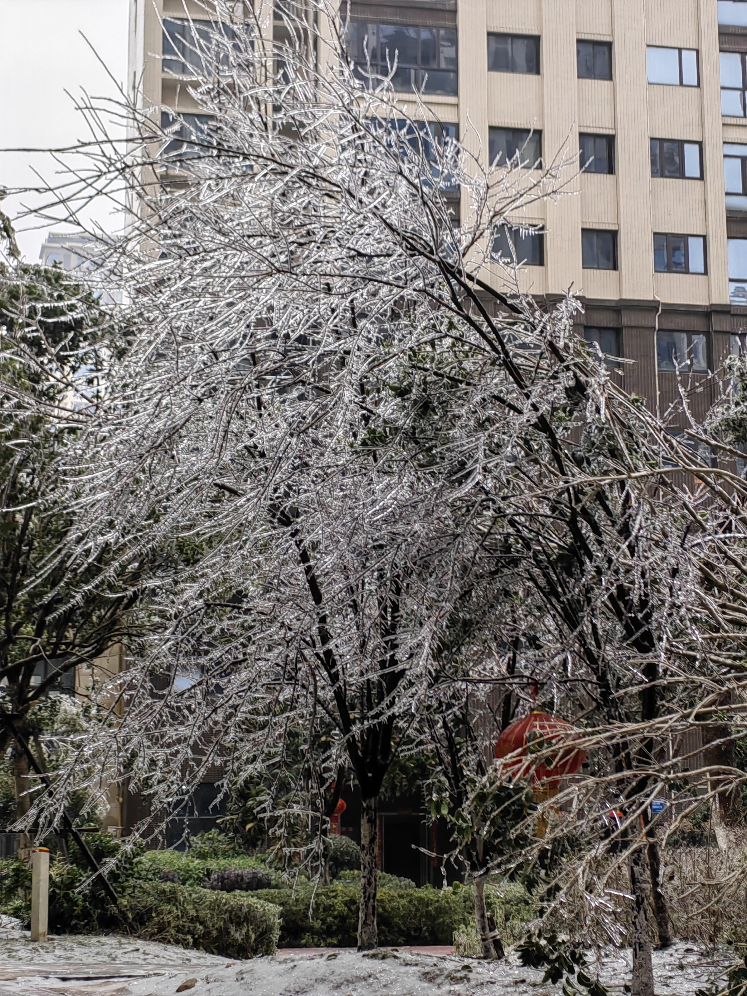
[[[396,63],[391,79],[394,90],[447,97],[458,93],[456,28],[407,28],[352,21],[347,47],[356,64],[356,75],[367,84],[369,73],[387,77]]]

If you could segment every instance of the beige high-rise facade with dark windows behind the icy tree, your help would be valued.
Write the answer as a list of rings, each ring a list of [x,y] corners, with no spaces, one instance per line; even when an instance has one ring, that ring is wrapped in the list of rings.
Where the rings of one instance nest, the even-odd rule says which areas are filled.
[[[130,85],[183,114],[198,111],[179,82],[187,13],[206,16],[130,5]],[[496,251],[526,260],[541,300],[582,295],[587,338],[631,361],[619,374],[649,406],[679,380],[704,413],[747,330],[747,0],[351,0],[349,15],[354,45],[396,50],[403,99],[424,85],[473,151],[580,155],[569,194],[516,219],[537,231],[509,227]]]

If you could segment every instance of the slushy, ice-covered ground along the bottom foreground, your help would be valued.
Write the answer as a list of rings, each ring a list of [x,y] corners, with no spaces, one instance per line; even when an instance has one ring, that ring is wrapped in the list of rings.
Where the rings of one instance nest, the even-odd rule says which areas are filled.
[[[14,922],[0,923],[0,996],[170,996],[196,980],[190,996],[561,996],[542,971],[518,959],[486,963],[444,948],[279,951],[251,961],[139,941],[122,935],[65,934],[32,943]],[[678,943],[654,955],[656,996],[694,996],[732,960]],[[586,969],[596,975],[590,955]],[[630,980],[630,952],[608,949],[599,976],[614,994]]]

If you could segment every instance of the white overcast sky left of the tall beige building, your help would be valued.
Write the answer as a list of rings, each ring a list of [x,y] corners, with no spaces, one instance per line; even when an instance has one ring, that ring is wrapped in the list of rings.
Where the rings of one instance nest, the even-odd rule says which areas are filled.
[[[79,32],[124,85],[127,10],[128,0],[0,0],[0,149],[59,147],[87,137],[65,91],[73,97],[81,88],[92,96],[114,96],[116,88]],[[48,155],[0,151],[0,187],[37,183],[32,166],[47,180],[59,169]],[[22,202],[33,205],[33,198],[8,197],[2,209],[13,217]],[[93,216],[109,228],[119,224],[105,204]],[[51,229],[66,226],[19,231],[29,262],[36,262]]]

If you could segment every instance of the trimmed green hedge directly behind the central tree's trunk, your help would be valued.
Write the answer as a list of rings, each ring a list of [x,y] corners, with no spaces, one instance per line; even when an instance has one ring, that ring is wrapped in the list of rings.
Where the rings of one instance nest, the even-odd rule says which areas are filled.
[[[312,889],[259,889],[252,893],[281,907],[279,947],[355,947],[358,942],[357,888],[329,885],[317,889],[309,919]],[[501,900],[486,893],[497,913]],[[454,931],[474,920],[472,889],[379,888],[376,923],[379,944],[450,944]]]

